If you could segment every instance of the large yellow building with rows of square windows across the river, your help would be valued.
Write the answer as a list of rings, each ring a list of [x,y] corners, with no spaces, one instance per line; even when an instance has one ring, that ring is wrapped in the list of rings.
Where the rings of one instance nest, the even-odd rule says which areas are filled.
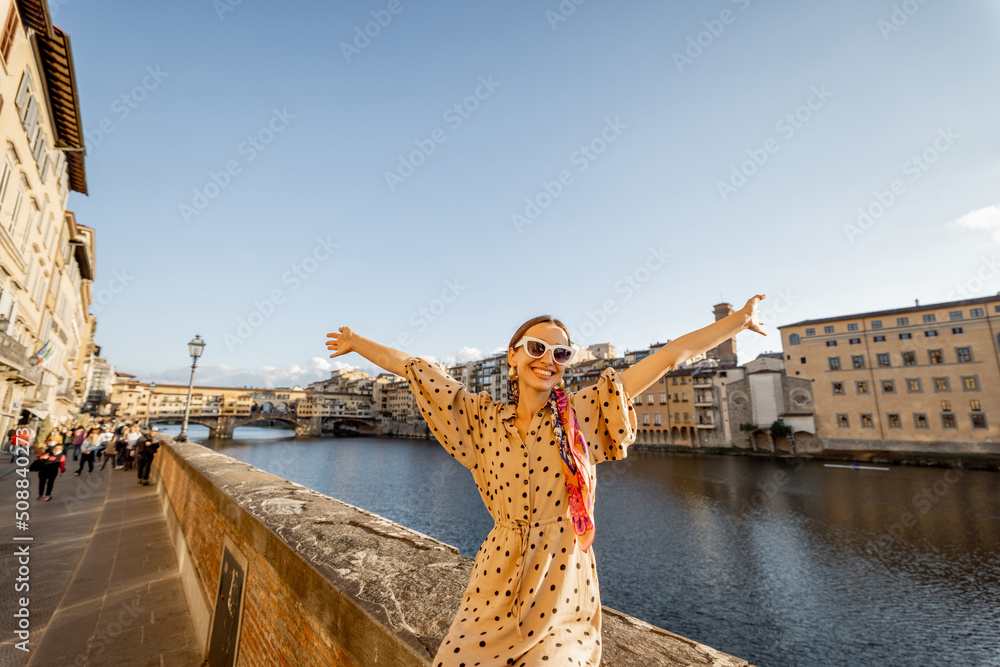
[[[826,449],[1000,452],[1000,295],[779,329]]]

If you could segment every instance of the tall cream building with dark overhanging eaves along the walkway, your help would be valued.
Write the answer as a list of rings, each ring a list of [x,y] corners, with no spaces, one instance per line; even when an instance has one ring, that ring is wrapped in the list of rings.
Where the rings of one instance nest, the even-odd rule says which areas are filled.
[[[44,0],[0,2],[0,432],[67,420],[93,345],[93,230],[66,209],[86,194],[69,37]]]

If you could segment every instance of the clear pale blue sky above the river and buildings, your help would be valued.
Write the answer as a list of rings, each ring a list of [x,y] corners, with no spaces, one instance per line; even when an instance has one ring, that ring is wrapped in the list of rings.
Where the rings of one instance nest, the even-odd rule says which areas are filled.
[[[467,358],[551,313],[637,349],[767,293],[745,362],[1000,290],[995,2],[236,2],[50,0],[97,342],[143,379],[201,334],[200,382],[304,384],[341,325]]]

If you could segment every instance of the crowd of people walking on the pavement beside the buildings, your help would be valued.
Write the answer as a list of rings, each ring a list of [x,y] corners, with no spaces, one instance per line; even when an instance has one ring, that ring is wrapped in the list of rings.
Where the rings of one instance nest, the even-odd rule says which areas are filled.
[[[100,463],[104,470],[108,463],[114,470],[137,472],[138,483],[149,485],[149,470],[153,456],[159,448],[156,427],[143,432],[137,421],[102,417],[84,425],[56,426],[44,440],[35,437],[28,427],[12,428],[7,432],[11,460],[16,456],[30,455],[30,470],[38,473],[38,500],[52,499],[55,479],[66,473],[66,459],[78,461],[74,475],[94,472]]]

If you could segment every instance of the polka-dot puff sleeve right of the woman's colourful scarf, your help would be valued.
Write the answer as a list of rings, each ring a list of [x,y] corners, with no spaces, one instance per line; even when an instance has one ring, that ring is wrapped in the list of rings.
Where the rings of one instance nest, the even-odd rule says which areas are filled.
[[[570,399],[580,431],[594,463],[617,461],[628,455],[637,427],[632,397],[625,391],[621,374],[606,368],[601,377]]]

